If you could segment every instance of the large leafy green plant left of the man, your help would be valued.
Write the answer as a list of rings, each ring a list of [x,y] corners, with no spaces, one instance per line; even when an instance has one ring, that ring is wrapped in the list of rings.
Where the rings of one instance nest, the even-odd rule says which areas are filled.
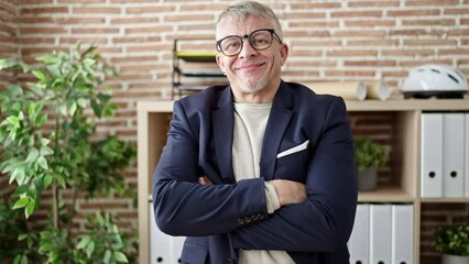
[[[12,186],[0,205],[2,263],[134,261],[127,254],[133,240],[109,212],[87,216],[87,231],[74,230],[78,198],[133,196],[123,174],[135,147],[96,133],[117,109],[105,84],[117,72],[96,48],[77,44],[69,53],[54,52],[31,65],[0,59],[0,70],[19,75],[0,91],[0,172]],[[52,196],[52,205],[45,204],[51,205],[45,209],[50,221],[37,224],[30,220],[44,194]]]

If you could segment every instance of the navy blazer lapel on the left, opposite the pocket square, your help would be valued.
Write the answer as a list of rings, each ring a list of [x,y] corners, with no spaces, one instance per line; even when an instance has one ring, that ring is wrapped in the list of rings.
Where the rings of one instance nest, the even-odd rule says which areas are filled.
[[[232,168],[232,142],[233,142],[233,103],[231,88],[227,87],[220,95],[217,107],[212,112],[214,140],[220,166],[221,178],[227,184],[236,183]]]

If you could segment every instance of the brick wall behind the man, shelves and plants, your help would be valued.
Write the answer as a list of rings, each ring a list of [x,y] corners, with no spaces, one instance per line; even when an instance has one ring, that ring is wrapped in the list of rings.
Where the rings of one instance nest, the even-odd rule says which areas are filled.
[[[69,48],[77,41],[98,44],[121,73],[113,84],[114,100],[121,108],[116,122],[106,129],[137,141],[135,102],[171,96],[173,41],[214,37],[217,14],[230,1],[12,2],[0,0],[0,55],[18,52],[23,59],[32,61],[53,50]],[[421,64],[449,64],[469,76],[469,0],[262,2],[277,12],[291,47],[283,68],[285,80],[384,79],[399,96],[400,81],[411,67]],[[381,136],[373,133],[383,141],[389,138],[389,129],[374,131],[381,131]],[[137,185],[134,169],[128,180]],[[137,211],[128,201],[103,199],[79,208],[92,211],[109,205],[116,205],[127,224],[137,226]],[[467,219],[466,205],[451,208],[423,207],[424,255],[434,254],[428,234],[435,224],[454,215],[462,213]]]

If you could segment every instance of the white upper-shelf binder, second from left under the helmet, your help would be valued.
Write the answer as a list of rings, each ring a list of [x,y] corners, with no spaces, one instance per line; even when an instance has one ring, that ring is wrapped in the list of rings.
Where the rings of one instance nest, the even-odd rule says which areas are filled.
[[[443,196],[463,197],[465,114],[443,114]]]

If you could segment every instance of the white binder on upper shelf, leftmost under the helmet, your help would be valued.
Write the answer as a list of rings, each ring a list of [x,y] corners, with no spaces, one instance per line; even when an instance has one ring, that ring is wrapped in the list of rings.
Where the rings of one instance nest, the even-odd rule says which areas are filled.
[[[443,113],[422,114],[421,196],[443,197]]]

